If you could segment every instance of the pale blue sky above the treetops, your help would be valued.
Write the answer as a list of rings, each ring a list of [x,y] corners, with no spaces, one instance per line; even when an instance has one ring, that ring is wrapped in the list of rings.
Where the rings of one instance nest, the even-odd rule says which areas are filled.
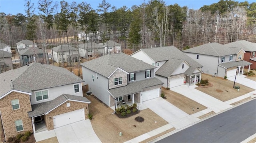
[[[61,0],[53,0],[54,2],[60,2]],[[102,3],[102,0],[65,0],[68,3],[76,1],[77,4],[85,1],[90,4],[94,10],[98,9],[98,5]],[[197,10],[204,5],[210,5],[213,3],[217,3],[219,0],[164,0],[166,5],[178,4],[181,7],[188,6],[189,9]],[[236,0],[238,2],[244,2],[245,0]],[[250,3],[255,2],[255,0],[247,0]],[[36,8],[35,14],[38,14],[37,2],[38,0],[31,0],[34,3]],[[131,8],[133,5],[139,6],[143,2],[148,2],[148,0],[106,0],[111,6],[116,6],[116,8],[121,8],[122,6],[127,6]],[[0,12],[4,12],[5,14],[16,15],[18,13],[25,14],[24,11],[24,0],[0,0]]]

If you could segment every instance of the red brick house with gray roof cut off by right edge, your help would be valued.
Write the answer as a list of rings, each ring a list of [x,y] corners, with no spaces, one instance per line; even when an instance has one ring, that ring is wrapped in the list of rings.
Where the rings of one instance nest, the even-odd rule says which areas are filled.
[[[235,41],[232,43],[225,44],[228,47],[237,47],[237,48],[243,48],[245,53],[244,53],[244,61],[248,61],[252,63],[250,66],[250,69],[256,69],[256,44],[246,41],[246,40],[241,40],[241,41]],[[249,68],[248,66],[246,68]]]

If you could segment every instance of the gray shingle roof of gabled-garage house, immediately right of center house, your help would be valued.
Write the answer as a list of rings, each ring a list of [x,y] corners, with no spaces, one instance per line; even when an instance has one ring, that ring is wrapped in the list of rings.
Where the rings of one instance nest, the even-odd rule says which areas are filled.
[[[191,75],[196,68],[203,67],[174,46],[148,48],[142,49],[142,51],[156,62],[167,61],[156,71],[156,74],[164,77],[169,77],[183,61],[186,61],[191,65],[191,68],[189,68],[190,70],[185,72],[188,75]]]

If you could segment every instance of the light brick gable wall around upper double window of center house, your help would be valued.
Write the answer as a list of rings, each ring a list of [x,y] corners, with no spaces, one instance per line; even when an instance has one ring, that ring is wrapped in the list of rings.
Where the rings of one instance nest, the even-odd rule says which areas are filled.
[[[119,78],[122,77],[122,84],[120,85],[114,85],[114,78]],[[127,74],[124,73],[121,70],[117,70],[116,72],[114,72],[109,78],[108,78],[108,87],[109,89],[112,88],[117,88],[117,87],[121,87],[121,86],[126,86],[127,85]]]

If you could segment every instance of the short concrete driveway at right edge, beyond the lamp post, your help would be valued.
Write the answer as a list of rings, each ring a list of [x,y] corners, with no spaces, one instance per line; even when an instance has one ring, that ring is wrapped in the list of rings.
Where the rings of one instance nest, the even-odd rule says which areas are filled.
[[[231,77],[228,77],[228,80],[231,80],[231,81],[234,82],[235,77],[236,77],[236,82],[237,83],[240,83],[240,84],[242,84],[244,86],[247,86],[247,87],[250,87],[250,88],[256,90],[256,82],[253,81],[253,80],[250,80],[248,78],[245,78],[246,77],[245,75],[231,76]]]

